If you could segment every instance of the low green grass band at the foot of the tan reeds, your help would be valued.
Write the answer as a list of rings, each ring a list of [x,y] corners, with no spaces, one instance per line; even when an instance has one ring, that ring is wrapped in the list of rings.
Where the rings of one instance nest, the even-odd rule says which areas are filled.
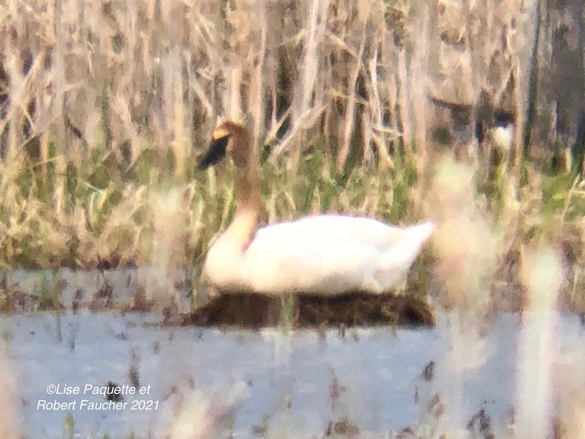
[[[336,157],[326,152],[324,142],[318,136],[283,164],[263,163],[261,190],[270,221],[311,212],[374,216],[394,224],[441,217],[438,210],[445,206],[433,198],[442,194],[429,191],[419,181],[416,148],[389,145],[390,166],[381,160],[348,159],[338,173]],[[192,151],[185,159],[187,172],[177,177],[173,155],[161,157],[154,145],[146,146],[125,168],[98,144],[81,163],[66,163],[66,172],[60,176],[53,165],[55,145],[49,142],[47,162],[39,162],[36,153],[25,151],[10,172],[2,174],[0,185],[7,190],[0,198],[0,224],[8,231],[0,236],[0,265],[4,267],[88,269],[104,262],[111,267],[152,265],[160,261],[153,252],[169,227],[183,245],[167,249],[176,254],[165,253],[162,263],[172,260],[178,266],[198,266],[208,242],[229,224],[235,211],[229,163],[199,172],[195,169],[198,152]],[[508,167],[498,164],[492,172],[490,166],[494,165],[479,163],[473,171],[470,197],[473,203],[486,206],[482,212],[493,218],[494,234],[511,233],[518,251],[535,241],[570,244],[581,251],[581,238],[574,229],[581,227],[585,197],[577,176],[533,165],[520,187]],[[435,167],[425,172],[424,180],[436,178]],[[177,200],[170,205],[168,194],[174,190]],[[456,191],[453,196],[458,197]],[[167,208],[176,218],[163,221],[160,211]],[[517,218],[511,224],[500,224],[511,209],[518,210]],[[581,267],[583,255],[573,259]],[[505,258],[500,260],[501,265],[507,263]],[[426,258],[425,265],[429,264],[432,259]],[[432,268],[418,264],[418,271],[426,279]],[[53,290],[54,286],[43,286],[39,303],[49,306],[55,302]],[[53,305],[58,307],[57,302]]]

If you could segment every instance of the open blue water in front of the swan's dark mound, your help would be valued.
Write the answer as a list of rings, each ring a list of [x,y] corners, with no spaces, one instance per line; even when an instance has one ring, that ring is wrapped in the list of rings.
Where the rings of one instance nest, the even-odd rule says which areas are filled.
[[[558,317],[558,348],[584,349],[579,319]],[[18,433],[61,438],[72,428],[73,437],[193,437],[208,428],[211,434],[195,437],[300,438],[356,427],[360,437],[377,438],[417,424],[456,423],[465,430],[484,409],[500,437],[511,420],[517,315],[495,318],[484,335],[463,337],[455,349],[446,318],[432,329],[348,329],[345,335],[224,332],[160,327],[159,321],[89,311],[0,318]],[[457,349],[464,358],[454,366]],[[108,381],[149,389],[124,395],[121,410],[91,410],[90,403],[106,399],[84,394],[85,386]],[[50,395],[49,385],[60,392],[80,387],[80,393]],[[76,403],[43,410],[42,401]]]

